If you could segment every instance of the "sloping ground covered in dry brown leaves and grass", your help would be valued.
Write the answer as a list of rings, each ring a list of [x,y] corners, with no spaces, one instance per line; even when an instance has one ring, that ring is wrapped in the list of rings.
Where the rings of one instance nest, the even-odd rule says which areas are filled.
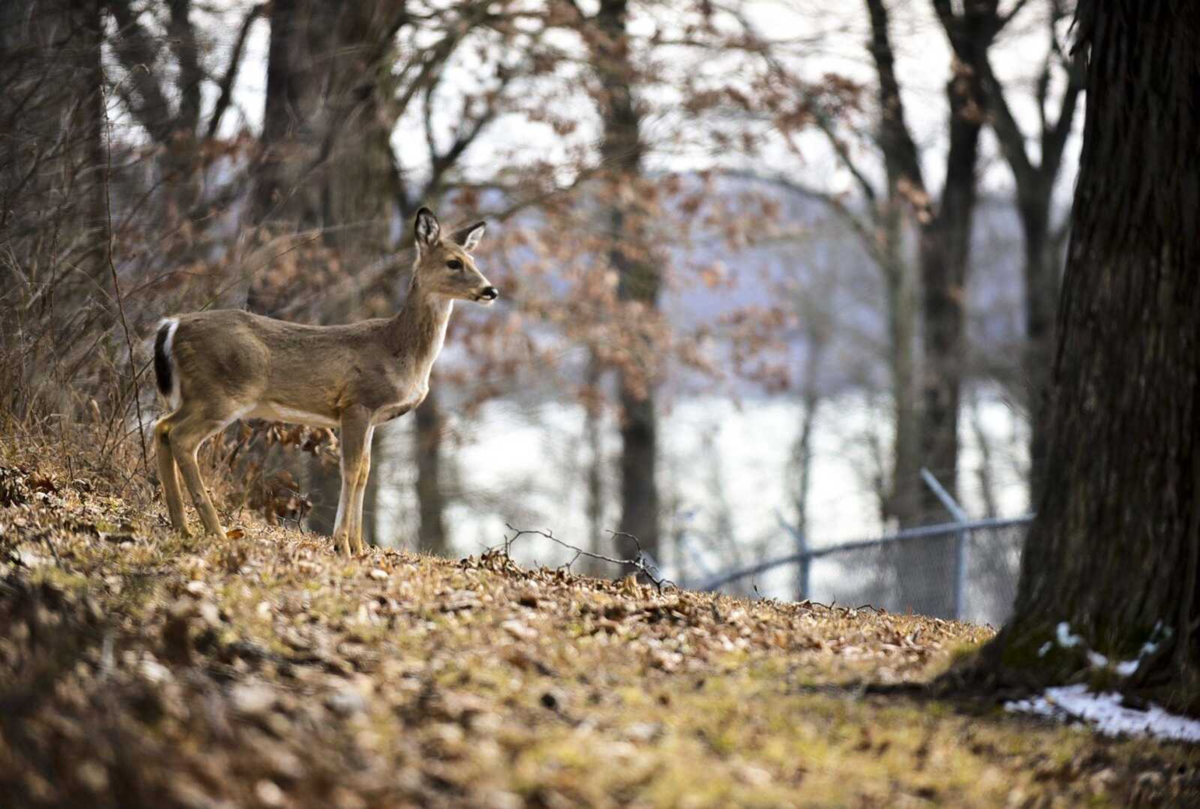
[[[880,688],[991,630],[374,550],[0,468],[4,805],[1076,805],[1200,754]],[[499,540],[499,538],[498,538]]]

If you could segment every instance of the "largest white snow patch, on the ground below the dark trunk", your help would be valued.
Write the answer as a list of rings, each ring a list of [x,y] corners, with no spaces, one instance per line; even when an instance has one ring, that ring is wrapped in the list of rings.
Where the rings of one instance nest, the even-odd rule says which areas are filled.
[[[1180,742],[1200,742],[1200,720],[1178,717],[1151,705],[1146,711],[1121,705],[1114,691],[1091,694],[1086,685],[1048,688],[1032,700],[1004,703],[1010,713],[1031,713],[1052,719],[1081,719],[1104,736],[1153,736]]]

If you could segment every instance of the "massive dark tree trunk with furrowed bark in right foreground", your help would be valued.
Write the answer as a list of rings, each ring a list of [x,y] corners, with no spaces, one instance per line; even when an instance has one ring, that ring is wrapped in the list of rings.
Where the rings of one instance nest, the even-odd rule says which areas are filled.
[[[1062,682],[1086,661],[1044,647],[1061,622],[1116,659],[1159,627],[1135,679],[1195,709],[1200,7],[1085,0],[1076,26],[1088,98],[1045,485],[1015,615],[977,671]]]

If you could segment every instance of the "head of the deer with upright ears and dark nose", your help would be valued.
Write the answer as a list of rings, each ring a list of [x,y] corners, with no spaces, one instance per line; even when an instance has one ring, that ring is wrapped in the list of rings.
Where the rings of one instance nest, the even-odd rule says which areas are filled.
[[[433,211],[428,208],[416,211],[416,265],[413,271],[421,288],[442,298],[491,305],[500,293],[470,257],[484,236],[486,224],[475,222],[443,235]]]

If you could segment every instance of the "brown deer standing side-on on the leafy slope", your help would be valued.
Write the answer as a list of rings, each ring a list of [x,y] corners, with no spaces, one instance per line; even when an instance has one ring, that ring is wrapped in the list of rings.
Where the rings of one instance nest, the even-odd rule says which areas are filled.
[[[205,532],[226,538],[197,453],[238,419],[272,419],[340,430],[342,489],[334,545],[346,556],[362,553],[362,495],[374,429],[425,400],[455,301],[490,306],[499,296],[472,258],[485,227],[475,222],[443,235],[433,211],[416,211],[413,278],[404,304],[390,318],[326,326],[242,310],[163,318],[154,367],[169,412],[154,435],[173,529],[190,535],[178,472]]]

